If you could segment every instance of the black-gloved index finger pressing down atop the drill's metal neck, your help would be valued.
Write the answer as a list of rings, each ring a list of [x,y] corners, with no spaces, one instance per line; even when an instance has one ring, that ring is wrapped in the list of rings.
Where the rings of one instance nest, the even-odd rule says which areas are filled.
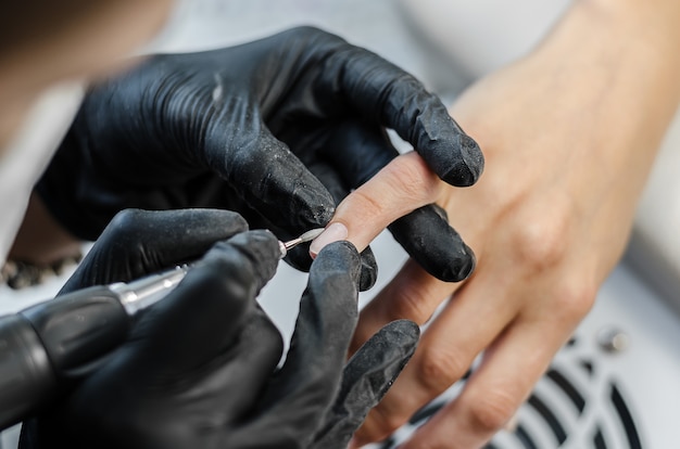
[[[278,240],[268,231],[244,232],[215,244],[189,270],[177,293],[173,292],[142,317],[155,323],[149,335],[143,322],[138,326],[134,337],[143,337],[140,345],[146,349],[142,352],[154,363],[177,372],[210,360],[227,347],[232,337],[229,333],[221,336],[228,328],[221,322],[243,315],[247,307],[254,307],[255,296],[276,272],[279,255]],[[191,295],[186,293],[188,288]],[[213,291],[222,294],[211,293]],[[229,300],[218,299],[223,296]],[[201,312],[192,313],[196,310]],[[214,313],[206,313],[206,310]],[[179,343],[176,336],[179,329],[187,334],[181,344],[168,345],[167,342]]]

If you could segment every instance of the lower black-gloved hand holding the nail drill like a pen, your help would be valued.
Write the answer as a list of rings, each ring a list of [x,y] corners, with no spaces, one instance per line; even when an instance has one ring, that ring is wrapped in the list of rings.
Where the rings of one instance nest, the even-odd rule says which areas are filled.
[[[243,228],[223,210],[123,213],[64,290],[194,260]],[[214,245],[98,371],[24,423],[21,447],[345,447],[415,350],[418,328],[396,321],[378,332],[339,389],[361,262],[350,243],[329,245],[312,267],[287,362],[274,372],[280,335],[254,298],[278,257],[266,231]]]

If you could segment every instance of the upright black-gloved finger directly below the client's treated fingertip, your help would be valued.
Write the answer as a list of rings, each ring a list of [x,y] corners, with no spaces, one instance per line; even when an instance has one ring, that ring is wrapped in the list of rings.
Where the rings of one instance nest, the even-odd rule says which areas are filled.
[[[348,242],[329,245],[314,260],[286,363],[257,418],[230,440],[234,447],[287,447],[312,438],[338,392],[357,318],[358,277],[360,256]]]

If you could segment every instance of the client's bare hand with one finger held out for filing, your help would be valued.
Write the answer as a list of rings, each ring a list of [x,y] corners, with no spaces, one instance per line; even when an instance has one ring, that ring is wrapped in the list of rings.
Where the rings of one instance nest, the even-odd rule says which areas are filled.
[[[482,354],[459,396],[403,447],[483,446],[529,395],[621,255],[680,98],[680,56],[666,43],[678,29],[666,17],[677,21],[680,9],[672,2],[672,10],[657,11],[655,2],[625,11],[617,3],[612,11],[592,3],[576,2],[534,53],[473,86],[451,110],[480,142],[487,171],[465,190],[433,175],[423,182],[433,184],[429,201],[475,249],[477,270],[452,285],[408,261],[362,311],[355,344],[395,318],[428,328],[355,442],[389,435]],[[658,34],[643,33],[642,17],[655,21]],[[373,203],[388,203],[383,210],[390,202],[418,205],[410,185],[399,188],[408,158],[418,156],[401,157],[339,205],[333,221],[348,223],[357,247],[368,243],[363,236],[373,226],[365,215],[353,217]]]

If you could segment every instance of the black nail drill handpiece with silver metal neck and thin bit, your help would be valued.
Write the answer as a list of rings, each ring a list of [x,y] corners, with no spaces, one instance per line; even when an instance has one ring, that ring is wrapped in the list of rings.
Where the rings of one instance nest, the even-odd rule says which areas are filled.
[[[323,229],[279,242],[281,258]],[[165,297],[190,266],[129,283],[97,285],[0,317],[0,429],[59,400],[127,337],[130,317]]]

